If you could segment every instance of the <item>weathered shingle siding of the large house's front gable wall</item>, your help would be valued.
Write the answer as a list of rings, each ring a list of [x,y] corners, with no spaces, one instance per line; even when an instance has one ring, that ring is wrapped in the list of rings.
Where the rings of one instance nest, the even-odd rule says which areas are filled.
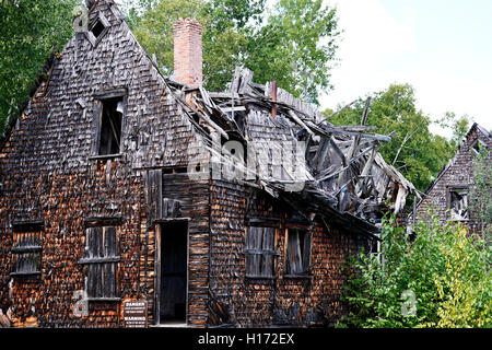
[[[34,306],[39,326],[120,325],[119,303],[93,303],[89,317],[72,313],[73,293],[84,289],[85,267],[79,261],[87,218],[121,218],[116,226],[121,256],[116,293],[151,299],[154,231],[147,225],[143,173],[147,167],[186,166],[194,153],[188,145],[198,138],[110,7],[101,1],[91,12],[92,21],[104,13],[108,32],[96,47],[84,34],[73,36],[0,151],[1,306],[11,304],[12,224],[42,220],[42,277],[15,278],[11,289],[15,316],[22,320]],[[127,91],[121,155],[91,159],[96,95],[121,88]],[[199,318],[192,322],[204,322]]]

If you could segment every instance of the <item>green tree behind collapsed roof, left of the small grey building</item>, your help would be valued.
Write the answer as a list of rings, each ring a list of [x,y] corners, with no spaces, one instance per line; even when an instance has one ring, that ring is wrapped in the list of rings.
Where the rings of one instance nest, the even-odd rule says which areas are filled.
[[[364,106],[365,101],[360,100],[330,121],[337,125],[359,125]],[[447,122],[452,118],[454,116],[449,114]],[[464,127],[468,130],[468,119],[464,118],[460,122],[466,122],[466,126],[460,125],[456,131],[461,131]],[[456,151],[457,142],[430,131],[432,121],[422,110],[417,109],[414,90],[409,84],[391,84],[387,90],[375,93],[366,125],[377,126],[379,133],[396,131],[391,142],[383,144],[379,152],[386,162],[398,168],[421,191],[426,189]],[[454,138],[458,139],[460,136]]]

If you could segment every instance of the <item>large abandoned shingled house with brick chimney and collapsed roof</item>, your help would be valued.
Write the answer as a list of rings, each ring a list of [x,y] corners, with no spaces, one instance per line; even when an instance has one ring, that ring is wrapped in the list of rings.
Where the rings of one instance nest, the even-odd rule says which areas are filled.
[[[10,325],[333,325],[345,256],[415,194],[377,152],[390,136],[370,132],[368,103],[336,127],[247,69],[208,92],[189,19],[164,77],[114,1],[89,3],[0,139]]]

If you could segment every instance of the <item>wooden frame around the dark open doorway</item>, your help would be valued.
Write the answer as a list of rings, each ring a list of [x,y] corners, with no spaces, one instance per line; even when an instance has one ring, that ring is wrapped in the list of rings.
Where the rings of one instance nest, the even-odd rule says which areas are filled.
[[[154,324],[161,324],[161,243],[162,226],[166,223],[186,223],[186,295],[185,295],[185,323],[188,325],[188,290],[189,290],[189,222],[190,218],[154,220],[155,246],[154,246]]]

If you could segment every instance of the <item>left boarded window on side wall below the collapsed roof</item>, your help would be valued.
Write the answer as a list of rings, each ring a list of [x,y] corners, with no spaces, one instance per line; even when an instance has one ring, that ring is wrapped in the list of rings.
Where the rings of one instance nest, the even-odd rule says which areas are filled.
[[[272,278],[274,228],[249,226],[246,232],[246,277]]]

